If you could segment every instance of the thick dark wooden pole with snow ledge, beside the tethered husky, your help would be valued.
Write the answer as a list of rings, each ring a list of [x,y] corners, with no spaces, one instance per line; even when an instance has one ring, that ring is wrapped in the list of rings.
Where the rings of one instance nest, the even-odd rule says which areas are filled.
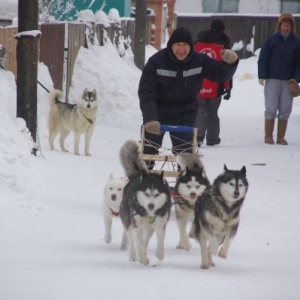
[[[19,0],[17,39],[17,117],[36,142],[38,72],[38,0]],[[32,149],[36,154],[36,149]]]

